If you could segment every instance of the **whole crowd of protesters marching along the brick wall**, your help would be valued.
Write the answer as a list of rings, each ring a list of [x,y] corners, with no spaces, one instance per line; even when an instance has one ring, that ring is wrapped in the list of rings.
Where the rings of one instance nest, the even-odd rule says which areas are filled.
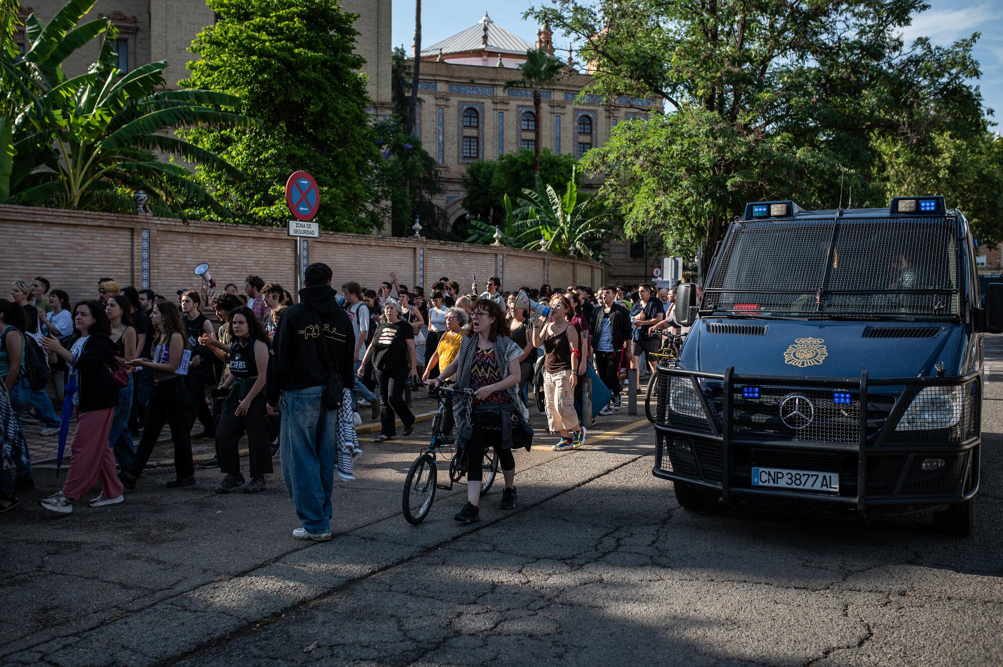
[[[0,300],[0,512],[17,506],[18,491],[34,488],[25,420],[38,422],[43,437],[69,439],[65,483],[41,501],[59,513],[71,512],[95,484],[100,494],[88,505],[122,502],[168,426],[176,472],[168,488],[195,484],[193,440],[215,440],[216,457],[200,468],[219,467],[218,493],[267,489],[281,451],[302,523],[296,537],[327,539],[333,476],[352,479],[351,461],[361,453],[357,411],[370,408],[379,421],[375,442],[396,438],[398,421],[408,436],[415,423],[409,390],[454,383],[477,391],[477,414],[524,411],[537,398],[560,436],[554,449],[578,449],[593,417],[581,412],[582,379],[594,370],[610,394],[599,415],[620,410],[623,372],[657,352],[660,335],[675,323],[674,293],[645,284],[506,291],[491,276],[483,291],[474,282],[463,294],[442,277],[426,294],[389,277],[376,289],[348,281],[339,292],[331,269],[312,264],[298,299],[257,275],[246,278],[243,293],[236,283],[219,293],[203,284],[175,298],[101,277],[97,298],[84,295],[73,306],[43,277],[14,282],[10,299]],[[646,361],[639,375],[654,372]],[[448,401],[447,432],[466,429],[474,454],[495,448],[503,506],[514,507],[511,443],[471,419]],[[201,431],[193,435],[196,422]],[[325,433],[339,447],[320,447]],[[245,436],[250,482],[238,449]],[[470,467],[471,480],[478,473]],[[476,520],[479,487],[469,489],[459,521]]]

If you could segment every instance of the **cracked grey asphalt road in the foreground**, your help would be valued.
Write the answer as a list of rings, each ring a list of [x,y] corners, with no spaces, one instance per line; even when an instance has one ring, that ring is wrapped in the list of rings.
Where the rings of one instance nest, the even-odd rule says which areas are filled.
[[[1003,342],[987,343],[969,539],[926,515],[687,512],[651,475],[643,409],[560,454],[535,416],[519,507],[497,509],[499,478],[466,527],[462,486],[420,526],[400,516],[427,424],[364,441],[321,544],[290,537],[278,474],[256,496],[213,494],[217,471],[177,491],[146,476],[122,505],[54,516],[37,499],[58,483],[39,471],[0,518],[0,665],[998,665]]]

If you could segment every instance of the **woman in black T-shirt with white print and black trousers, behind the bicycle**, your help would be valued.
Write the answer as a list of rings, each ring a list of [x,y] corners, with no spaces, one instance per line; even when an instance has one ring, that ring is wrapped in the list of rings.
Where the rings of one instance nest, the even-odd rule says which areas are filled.
[[[411,379],[417,380],[417,356],[414,352],[414,329],[400,318],[400,301],[383,301],[383,321],[376,327],[372,345],[366,350],[358,376],[361,378],[370,361],[379,386],[380,434],[374,442],[382,443],[397,435],[396,418],[404,425],[404,435],[414,431],[414,414],[404,401],[404,388]]]

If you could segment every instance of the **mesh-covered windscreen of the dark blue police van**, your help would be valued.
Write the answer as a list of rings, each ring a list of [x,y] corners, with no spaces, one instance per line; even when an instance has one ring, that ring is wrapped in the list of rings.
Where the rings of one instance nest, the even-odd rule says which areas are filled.
[[[703,315],[944,318],[959,308],[957,223],[947,217],[736,223]]]

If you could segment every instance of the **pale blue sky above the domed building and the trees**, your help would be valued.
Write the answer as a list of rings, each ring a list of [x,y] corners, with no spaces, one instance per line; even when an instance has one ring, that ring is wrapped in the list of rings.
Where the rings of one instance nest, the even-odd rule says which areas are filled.
[[[414,42],[413,0],[392,0],[394,46],[403,46],[410,54]],[[981,32],[975,46],[975,56],[982,66],[982,78],[977,81],[985,106],[996,110],[993,117],[1003,122],[1003,2],[1000,0],[928,0],[930,9],[919,14],[905,31],[907,40],[930,37],[935,44],[950,44],[956,39]],[[527,0],[482,2],[469,0],[425,0],[422,3],[421,43],[434,44],[450,35],[468,28],[484,15],[486,10],[499,26],[533,43],[540,27],[523,20],[523,12],[533,6]],[[538,3],[539,4],[539,3]],[[554,35],[558,57],[567,58],[569,40],[561,34]],[[1000,128],[1003,129],[1003,128]]]

